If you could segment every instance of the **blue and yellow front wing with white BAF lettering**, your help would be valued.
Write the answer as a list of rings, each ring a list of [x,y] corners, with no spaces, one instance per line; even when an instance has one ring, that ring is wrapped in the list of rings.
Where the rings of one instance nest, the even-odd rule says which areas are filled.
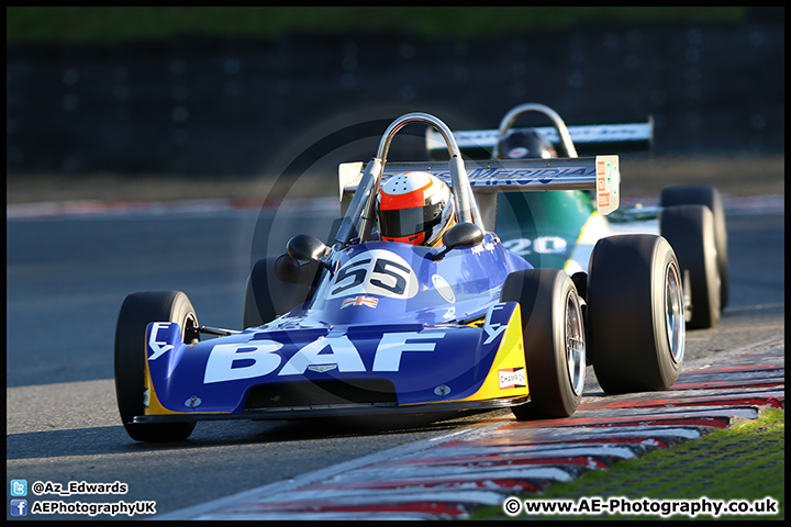
[[[467,325],[349,326],[311,329],[311,338],[263,329],[186,346],[178,324],[149,324],[145,413],[134,422],[420,414],[528,401],[515,302]]]

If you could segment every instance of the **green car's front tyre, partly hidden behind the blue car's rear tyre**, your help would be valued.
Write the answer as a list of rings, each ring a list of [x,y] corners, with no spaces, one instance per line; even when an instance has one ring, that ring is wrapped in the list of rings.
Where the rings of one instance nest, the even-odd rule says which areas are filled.
[[[659,232],[672,246],[682,274],[689,272],[692,313],[687,327],[714,327],[722,291],[714,215],[704,205],[669,206],[662,209]]]

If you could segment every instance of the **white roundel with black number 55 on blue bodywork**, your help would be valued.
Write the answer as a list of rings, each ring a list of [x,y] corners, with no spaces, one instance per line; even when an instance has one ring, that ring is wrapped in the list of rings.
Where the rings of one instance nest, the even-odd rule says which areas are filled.
[[[328,299],[363,293],[411,299],[417,293],[414,271],[406,260],[389,250],[364,253],[338,270]]]

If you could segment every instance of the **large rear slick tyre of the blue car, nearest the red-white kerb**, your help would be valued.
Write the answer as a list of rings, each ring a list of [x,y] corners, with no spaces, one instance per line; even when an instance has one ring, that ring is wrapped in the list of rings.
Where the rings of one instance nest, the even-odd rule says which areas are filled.
[[[590,260],[588,347],[608,394],[667,390],[684,350],[683,283],[661,236],[600,239]]]

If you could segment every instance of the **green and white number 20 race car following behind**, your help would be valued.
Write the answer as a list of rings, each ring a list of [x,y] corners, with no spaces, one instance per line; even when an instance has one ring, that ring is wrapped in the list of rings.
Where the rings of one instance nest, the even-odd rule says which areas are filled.
[[[516,119],[526,113],[542,114],[552,124],[514,127]],[[572,159],[578,157],[578,147],[598,155],[648,149],[654,138],[650,119],[643,123],[567,126],[550,108],[526,103],[509,111],[497,130],[454,131],[454,136],[466,156],[479,160],[479,171],[470,170],[474,192],[487,228],[497,232],[510,250],[530,258],[536,267],[566,270],[584,300],[597,243],[617,234],[660,234],[672,246],[683,272],[687,327],[708,328],[717,323],[728,300],[728,259],[725,213],[716,188],[668,187],[660,193],[657,206],[615,210],[619,182],[614,182],[614,195],[603,188],[580,190],[573,179],[580,176],[579,169],[573,166],[514,175],[533,178],[536,184],[514,187],[510,192],[502,188],[493,192],[486,184],[476,184],[477,180],[482,182],[502,172],[499,161]],[[435,131],[426,132],[432,158],[443,149],[439,139]],[[619,177],[619,170],[614,175]],[[542,181],[548,182],[550,177],[552,190],[560,189],[558,180],[566,180],[566,191],[543,191],[549,189],[543,188]],[[602,206],[611,206],[613,213],[601,213]]]

